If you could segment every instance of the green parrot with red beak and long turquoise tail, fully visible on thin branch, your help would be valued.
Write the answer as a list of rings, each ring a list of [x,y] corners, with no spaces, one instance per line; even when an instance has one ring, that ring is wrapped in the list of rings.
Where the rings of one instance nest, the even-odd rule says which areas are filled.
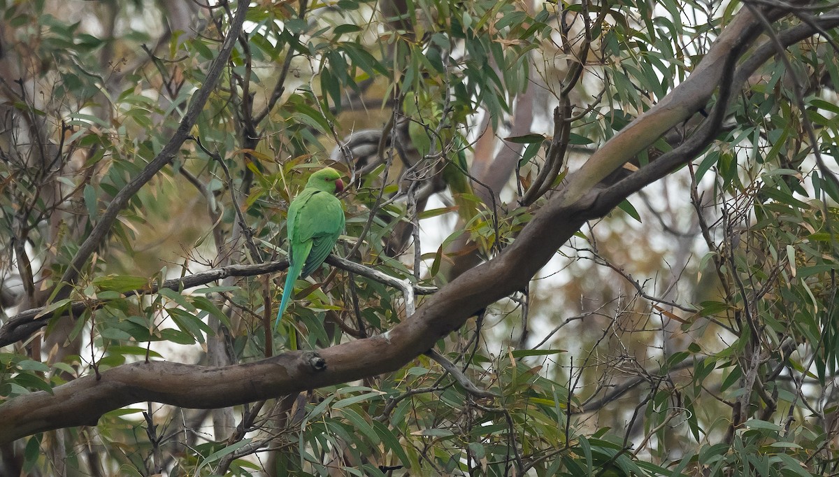
[[[332,251],[344,230],[344,209],[335,194],[344,190],[341,174],[326,167],[309,177],[302,192],[289,204],[286,228],[289,233],[289,275],[285,277],[283,299],[277,321],[294,295],[294,281],[305,278]]]

